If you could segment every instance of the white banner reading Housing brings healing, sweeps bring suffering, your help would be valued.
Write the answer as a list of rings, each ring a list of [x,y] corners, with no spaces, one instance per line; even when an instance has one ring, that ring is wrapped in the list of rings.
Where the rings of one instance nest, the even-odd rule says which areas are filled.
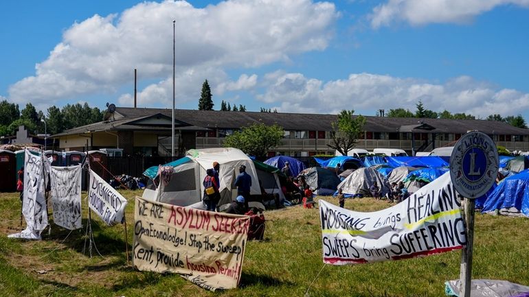
[[[447,172],[403,202],[360,213],[319,200],[324,263],[407,259],[463,248],[460,197]]]

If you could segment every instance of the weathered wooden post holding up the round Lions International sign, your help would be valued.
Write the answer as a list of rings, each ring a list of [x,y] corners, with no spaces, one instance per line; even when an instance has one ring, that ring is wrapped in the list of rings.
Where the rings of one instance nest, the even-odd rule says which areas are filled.
[[[466,246],[461,250],[461,275],[459,296],[470,297],[472,281],[472,248],[474,241],[475,200],[464,198],[464,222],[466,228]]]

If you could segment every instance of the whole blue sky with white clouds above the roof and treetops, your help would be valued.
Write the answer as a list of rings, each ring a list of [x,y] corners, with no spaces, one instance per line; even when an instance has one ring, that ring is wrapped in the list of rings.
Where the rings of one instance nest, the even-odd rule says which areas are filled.
[[[0,99],[38,109],[381,108],[529,121],[528,0],[3,1]]]

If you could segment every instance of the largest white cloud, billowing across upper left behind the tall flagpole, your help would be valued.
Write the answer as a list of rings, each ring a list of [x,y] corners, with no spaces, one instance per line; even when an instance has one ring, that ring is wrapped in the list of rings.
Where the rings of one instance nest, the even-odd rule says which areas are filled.
[[[333,3],[311,0],[231,0],[205,8],[185,1],[143,2],[121,14],[96,14],[74,23],[48,58],[36,64],[35,75],[10,87],[9,97],[16,103],[39,99],[52,104],[78,95],[113,94],[138,69],[142,79],[160,80],[142,91],[143,102],[155,102],[168,92],[172,99],[166,78],[172,75],[173,19],[182,90],[186,82],[205,78],[220,84],[226,67],[258,67],[323,50],[338,16]],[[219,78],[207,77],[212,68]],[[249,88],[255,80],[253,75],[241,77],[223,84],[223,90]]]

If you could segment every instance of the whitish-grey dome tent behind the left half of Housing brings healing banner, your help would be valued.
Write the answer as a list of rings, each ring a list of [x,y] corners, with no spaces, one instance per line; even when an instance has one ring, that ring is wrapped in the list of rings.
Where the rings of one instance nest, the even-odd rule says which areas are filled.
[[[387,183],[387,179],[374,167],[362,167],[355,170],[338,185],[338,189],[341,189],[342,193],[346,195],[370,195],[369,189],[375,181],[381,189],[381,195],[390,191],[390,184]]]

